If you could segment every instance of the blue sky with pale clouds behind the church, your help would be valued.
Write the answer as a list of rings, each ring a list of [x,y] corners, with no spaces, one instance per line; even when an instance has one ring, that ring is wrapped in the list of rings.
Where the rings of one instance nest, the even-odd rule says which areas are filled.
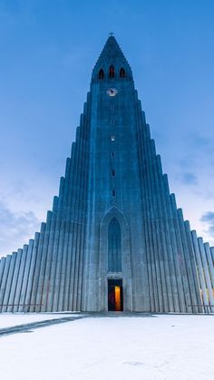
[[[0,256],[58,194],[92,68],[113,32],[184,218],[214,245],[214,2],[0,0]]]

